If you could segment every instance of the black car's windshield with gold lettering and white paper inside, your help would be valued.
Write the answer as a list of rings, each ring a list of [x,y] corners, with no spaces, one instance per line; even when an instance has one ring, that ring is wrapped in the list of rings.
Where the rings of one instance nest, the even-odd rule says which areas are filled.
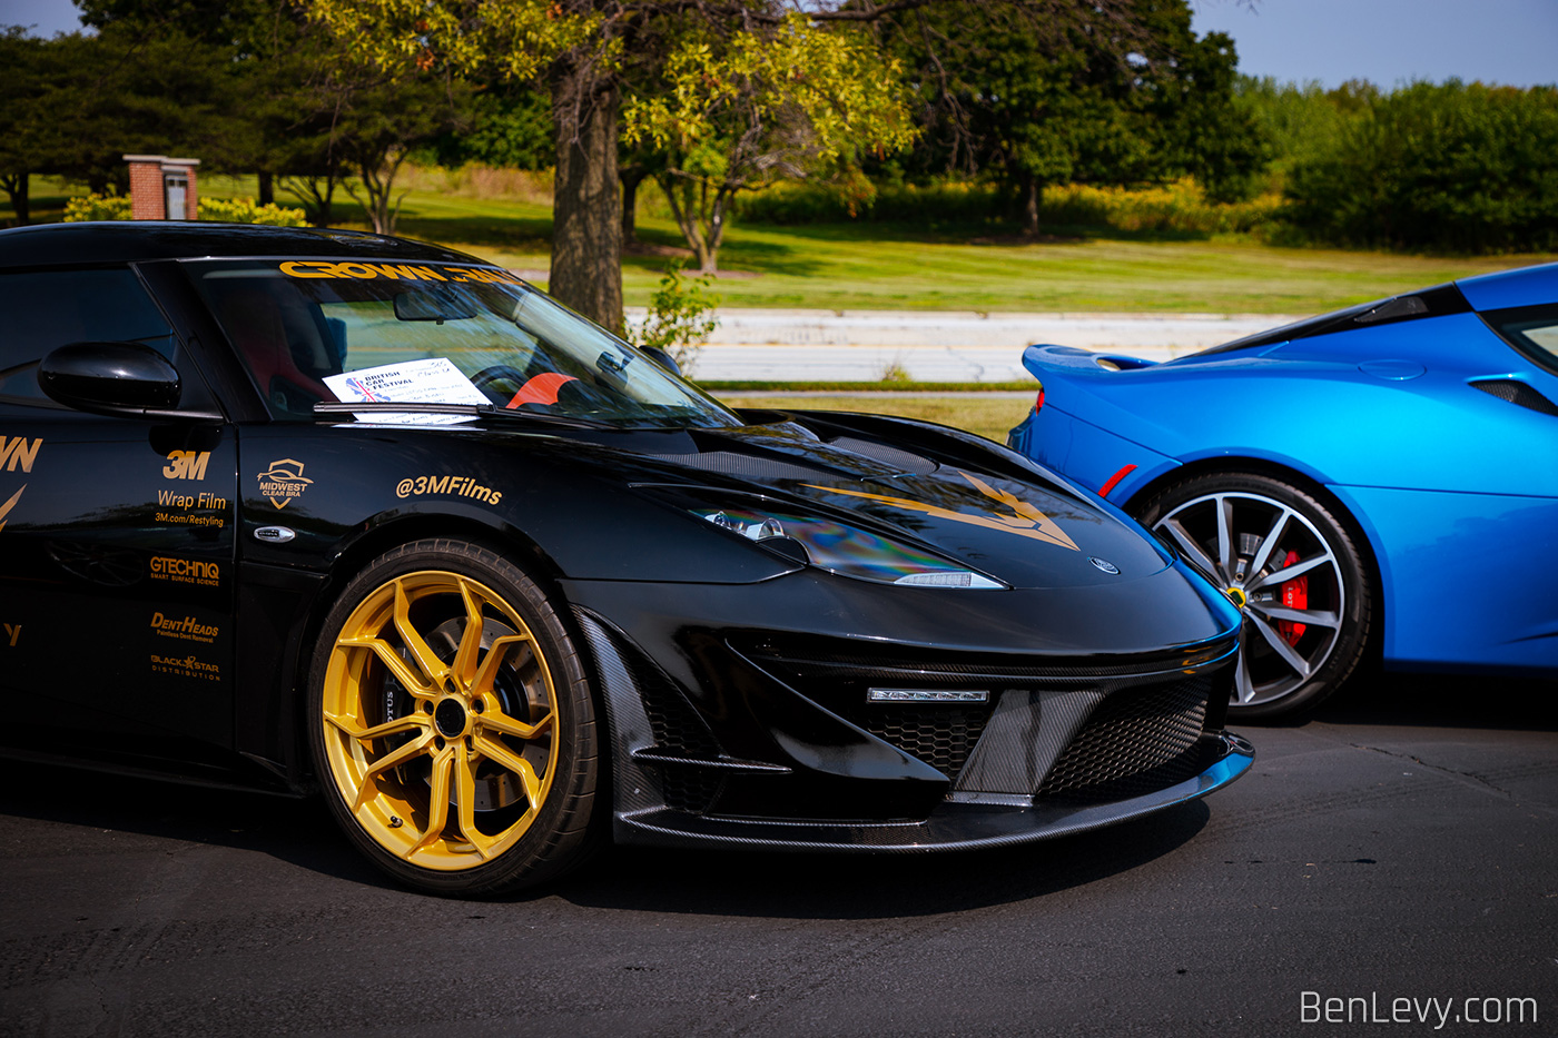
[[[619,429],[738,425],[647,354],[495,267],[192,262],[277,419],[316,402],[485,404]],[[375,422],[463,416],[372,411]]]

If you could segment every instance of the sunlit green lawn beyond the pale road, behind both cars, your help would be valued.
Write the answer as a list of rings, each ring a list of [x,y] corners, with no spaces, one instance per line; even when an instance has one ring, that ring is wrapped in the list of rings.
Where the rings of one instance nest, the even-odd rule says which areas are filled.
[[[209,195],[252,196],[252,179],[207,176]],[[670,220],[642,192],[639,237],[679,246]],[[59,218],[65,190],[34,181],[34,218]],[[290,196],[280,196],[290,204]],[[341,196],[346,226],[366,226]],[[0,203],[0,221],[9,215]],[[399,234],[461,248],[516,270],[545,271],[552,214],[544,203],[413,190]],[[1505,270],[1555,256],[1433,257],[1274,248],[1250,240],[1144,235],[1103,229],[1025,243],[991,228],[880,223],[734,224],[715,291],[728,307],[829,310],[1006,310],[1320,313],[1352,302]],[[623,262],[628,305],[643,305],[665,257]]]

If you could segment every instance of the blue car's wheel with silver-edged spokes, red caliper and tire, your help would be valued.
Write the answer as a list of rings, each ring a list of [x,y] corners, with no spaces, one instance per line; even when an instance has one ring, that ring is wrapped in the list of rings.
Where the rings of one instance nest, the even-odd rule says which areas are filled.
[[[1260,472],[1214,472],[1158,488],[1131,502],[1131,514],[1245,616],[1231,717],[1290,722],[1359,666],[1374,578],[1337,505]],[[1285,570],[1287,580],[1273,580]]]

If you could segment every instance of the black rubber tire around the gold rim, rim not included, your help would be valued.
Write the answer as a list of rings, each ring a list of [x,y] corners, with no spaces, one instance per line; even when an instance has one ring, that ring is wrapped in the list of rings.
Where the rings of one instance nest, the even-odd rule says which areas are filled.
[[[385,583],[418,570],[447,570],[486,584],[530,628],[552,672],[555,776],[530,828],[492,860],[458,871],[413,865],[374,840],[351,812],[326,747],[324,689],[335,641],[352,611]],[[597,728],[583,661],[558,609],[541,588],[506,558],[464,541],[418,541],[374,560],[341,592],[327,614],[308,669],[308,748],[326,803],[347,839],[399,882],[446,896],[492,896],[544,882],[576,863],[590,843],[597,786]],[[332,736],[333,737],[333,736]]]

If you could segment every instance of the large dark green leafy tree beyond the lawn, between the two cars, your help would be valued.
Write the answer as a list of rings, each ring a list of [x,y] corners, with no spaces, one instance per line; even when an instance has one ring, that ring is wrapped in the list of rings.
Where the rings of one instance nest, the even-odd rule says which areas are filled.
[[[996,176],[1024,231],[1045,184],[1136,184],[1193,173],[1239,190],[1265,151],[1232,103],[1237,58],[1197,39],[1184,0],[1078,5],[1050,19],[1020,6],[929,6],[883,22],[911,70],[919,175]]]

